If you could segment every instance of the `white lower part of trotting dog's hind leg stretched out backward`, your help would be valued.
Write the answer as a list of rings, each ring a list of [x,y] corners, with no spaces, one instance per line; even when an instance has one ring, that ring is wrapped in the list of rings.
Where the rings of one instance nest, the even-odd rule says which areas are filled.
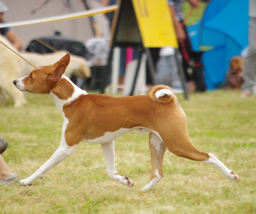
[[[239,177],[233,170],[228,169],[220,160],[218,160],[213,154],[209,153],[209,159],[204,160],[204,163],[210,164],[220,170],[228,179],[236,183],[239,182]]]

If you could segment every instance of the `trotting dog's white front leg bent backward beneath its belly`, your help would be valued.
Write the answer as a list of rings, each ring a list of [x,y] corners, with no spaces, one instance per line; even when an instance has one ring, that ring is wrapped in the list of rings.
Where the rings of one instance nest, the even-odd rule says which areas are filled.
[[[107,169],[108,177],[114,181],[117,181],[121,184],[124,184],[124,185],[132,188],[134,185],[134,182],[127,176],[120,176],[116,172],[114,141],[105,143],[105,144],[101,144],[101,148],[102,148],[105,162],[106,162],[106,169]]]

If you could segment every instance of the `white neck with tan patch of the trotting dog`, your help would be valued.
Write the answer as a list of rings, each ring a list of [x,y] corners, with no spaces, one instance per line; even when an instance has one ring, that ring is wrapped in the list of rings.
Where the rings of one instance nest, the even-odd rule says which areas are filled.
[[[62,113],[63,106],[72,103],[80,95],[88,94],[86,91],[77,87],[71,80],[63,75],[57,85],[49,93],[56,107]]]

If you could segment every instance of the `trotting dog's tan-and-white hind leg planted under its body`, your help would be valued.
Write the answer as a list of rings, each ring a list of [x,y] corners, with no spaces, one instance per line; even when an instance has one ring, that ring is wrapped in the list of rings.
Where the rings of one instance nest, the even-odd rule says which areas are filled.
[[[150,190],[156,186],[163,177],[163,158],[166,146],[163,141],[153,132],[149,133],[149,149],[151,154],[152,173],[149,183],[141,190]]]

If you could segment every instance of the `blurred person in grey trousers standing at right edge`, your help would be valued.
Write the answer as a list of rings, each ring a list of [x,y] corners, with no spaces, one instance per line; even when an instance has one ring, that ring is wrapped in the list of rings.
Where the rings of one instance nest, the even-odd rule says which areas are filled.
[[[250,0],[249,16],[249,51],[244,63],[241,97],[253,94],[256,81],[256,0]]]

